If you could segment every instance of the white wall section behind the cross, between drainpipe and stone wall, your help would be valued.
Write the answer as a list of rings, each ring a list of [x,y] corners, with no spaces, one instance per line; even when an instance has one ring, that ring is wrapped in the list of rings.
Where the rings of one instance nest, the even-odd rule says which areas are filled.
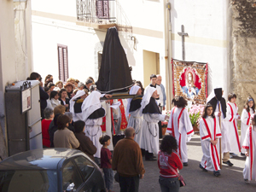
[[[207,62],[208,94],[223,86],[227,96],[227,1],[170,0],[172,4],[172,57],[182,60],[181,25],[185,37],[185,61]]]

